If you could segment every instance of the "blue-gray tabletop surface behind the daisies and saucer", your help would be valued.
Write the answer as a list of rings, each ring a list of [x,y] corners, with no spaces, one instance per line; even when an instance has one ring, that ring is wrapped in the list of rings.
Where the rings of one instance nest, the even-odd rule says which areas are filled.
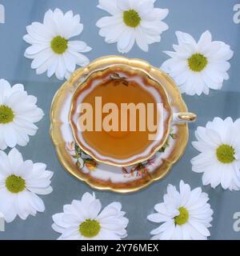
[[[230,44],[234,50],[234,58],[230,61],[230,80],[224,82],[222,90],[210,91],[210,95],[186,96],[183,98],[189,109],[198,114],[198,121],[190,125],[190,142],[194,140],[194,130],[197,126],[205,126],[215,116],[239,118],[240,110],[240,24],[234,24],[234,5],[239,0],[157,0],[155,6],[168,8],[170,14],[166,23],[170,29],[162,34],[162,42],[150,46],[148,53],[139,50],[137,46],[126,54],[130,58],[143,58],[154,66],[161,66],[167,56],[162,50],[172,50],[176,43],[174,32],[182,30],[198,39],[205,30],[210,30],[214,40]],[[47,78],[46,74],[37,75],[30,69],[30,60],[23,54],[28,46],[22,36],[26,34],[26,26],[31,22],[42,22],[48,9],[56,7],[66,12],[73,10],[81,15],[84,30],[80,40],[87,42],[93,48],[86,56],[90,60],[109,54],[119,54],[115,44],[109,45],[98,35],[95,26],[97,20],[106,15],[96,6],[97,0],[0,0],[6,9],[6,24],[0,24],[0,78],[6,78],[11,84],[23,83],[29,94],[38,97],[38,106],[45,112],[45,117],[38,123],[38,133],[30,138],[26,147],[18,147],[25,159],[34,162],[45,162],[49,170],[54,171],[52,194],[43,196],[46,211],[29,217],[26,221],[16,218],[6,225],[6,231],[0,232],[0,239],[55,239],[58,234],[51,229],[52,214],[62,211],[62,206],[75,198],[80,198],[86,191],[93,191],[90,186],[70,176],[62,168],[56,157],[54,146],[50,141],[49,110],[52,98],[62,82],[57,78]],[[160,182],[155,182],[134,194],[115,194],[96,190],[96,196],[106,206],[110,202],[122,202],[122,209],[130,219],[128,226],[129,239],[149,239],[150,230],[156,225],[146,220],[146,216],[154,211],[154,205],[162,201],[167,184],[178,186],[183,179],[192,188],[202,186],[202,174],[191,171],[190,159],[198,154],[190,145],[186,153],[177,162],[170,174]],[[202,189],[210,195],[210,204],[214,210],[213,227],[210,228],[210,239],[238,239],[240,232],[233,230],[235,212],[240,211],[240,191],[224,191],[218,186],[213,190],[210,186]],[[1,202],[0,202],[1,203]]]

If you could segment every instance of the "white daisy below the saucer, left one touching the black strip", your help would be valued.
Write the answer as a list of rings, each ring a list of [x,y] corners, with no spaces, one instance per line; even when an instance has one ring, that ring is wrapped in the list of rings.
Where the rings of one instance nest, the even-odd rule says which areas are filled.
[[[54,214],[52,228],[62,235],[60,240],[120,240],[126,238],[128,219],[123,217],[120,202],[112,202],[102,212],[95,194],[85,193],[81,201],[63,206],[63,213]]]

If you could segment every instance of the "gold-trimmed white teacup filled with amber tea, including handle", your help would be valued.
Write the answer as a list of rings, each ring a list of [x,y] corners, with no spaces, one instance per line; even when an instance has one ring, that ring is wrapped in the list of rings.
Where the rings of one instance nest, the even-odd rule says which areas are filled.
[[[98,162],[131,166],[165,145],[174,122],[192,113],[174,113],[164,87],[146,71],[116,64],[94,71],[74,92],[70,125],[78,146]]]

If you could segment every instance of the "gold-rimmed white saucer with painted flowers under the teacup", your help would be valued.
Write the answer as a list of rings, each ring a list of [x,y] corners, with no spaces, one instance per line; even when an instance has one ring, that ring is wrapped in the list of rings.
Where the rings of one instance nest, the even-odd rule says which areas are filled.
[[[165,88],[172,109],[175,112],[187,112],[186,104],[182,100],[178,87],[161,70],[139,59],[108,56],[98,58],[86,68],[76,70],[70,80],[57,91],[50,110],[50,135],[59,161],[74,177],[95,189],[128,193],[150,185],[170,171],[170,167],[184,153],[188,141],[188,126],[186,123],[172,125],[170,136],[162,149],[145,162],[132,166],[110,166],[106,163],[96,162],[90,155],[83,152],[74,140],[69,123],[72,97],[79,84],[90,73],[116,64],[127,64],[147,72],[151,78],[160,82]]]

